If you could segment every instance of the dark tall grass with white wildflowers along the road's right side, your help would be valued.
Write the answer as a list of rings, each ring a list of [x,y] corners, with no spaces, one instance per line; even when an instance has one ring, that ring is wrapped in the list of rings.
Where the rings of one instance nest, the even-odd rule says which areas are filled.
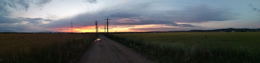
[[[260,51],[247,45],[209,45],[206,43],[187,45],[183,42],[149,41],[106,35],[110,39],[131,47],[158,62],[182,63],[251,63],[260,62]],[[204,35],[205,36],[205,35]],[[153,38],[151,38],[153,39]],[[158,38],[157,38],[158,39]],[[206,46],[207,45],[207,46]],[[208,47],[212,46],[212,47]]]

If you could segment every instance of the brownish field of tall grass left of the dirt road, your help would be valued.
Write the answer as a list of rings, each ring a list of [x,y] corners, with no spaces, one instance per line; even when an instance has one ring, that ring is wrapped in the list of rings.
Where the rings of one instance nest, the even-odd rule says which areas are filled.
[[[0,62],[73,62],[97,34],[0,34]]]

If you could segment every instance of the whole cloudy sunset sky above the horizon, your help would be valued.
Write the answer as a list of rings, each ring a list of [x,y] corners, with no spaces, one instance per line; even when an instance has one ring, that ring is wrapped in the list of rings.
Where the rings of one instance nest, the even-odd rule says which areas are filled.
[[[260,28],[260,0],[0,0],[0,32]],[[72,22],[71,22],[72,21]],[[107,27],[107,26],[106,26]],[[107,30],[106,30],[107,31]]]

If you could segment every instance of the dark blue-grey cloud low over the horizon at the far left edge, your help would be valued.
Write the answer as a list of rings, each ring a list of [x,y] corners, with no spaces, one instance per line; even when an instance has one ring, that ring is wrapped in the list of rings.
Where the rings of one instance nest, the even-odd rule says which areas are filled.
[[[50,31],[44,27],[53,27],[55,25],[50,25],[54,23],[54,20],[44,19],[44,18],[9,18],[0,16],[0,32],[39,32],[39,31]],[[61,22],[62,23],[62,22]]]

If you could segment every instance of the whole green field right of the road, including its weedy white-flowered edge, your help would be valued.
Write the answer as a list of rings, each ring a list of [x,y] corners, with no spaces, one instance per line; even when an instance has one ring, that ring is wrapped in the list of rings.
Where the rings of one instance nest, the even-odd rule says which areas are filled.
[[[159,62],[259,62],[260,33],[112,34],[110,39]]]

